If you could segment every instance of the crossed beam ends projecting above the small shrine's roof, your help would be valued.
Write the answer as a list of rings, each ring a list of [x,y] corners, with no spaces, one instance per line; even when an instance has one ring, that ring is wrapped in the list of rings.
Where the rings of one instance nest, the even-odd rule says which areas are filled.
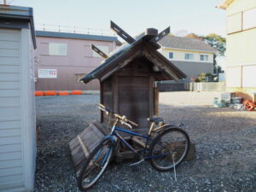
[[[132,38],[125,30],[123,30],[120,26],[115,24],[112,20],[110,21],[110,28],[116,32],[120,38],[123,38],[125,42],[128,44],[132,44],[136,41],[136,39]],[[160,32],[158,35],[155,36],[155,33],[157,33],[157,30],[154,28],[148,28],[146,31],[146,34],[155,36],[150,41],[158,42],[160,39],[166,37],[171,32],[170,26],[168,26],[164,31]],[[96,47],[96,45],[91,44],[91,49],[93,49],[98,55],[101,55],[102,58],[107,59],[108,55],[104,53],[101,49]]]

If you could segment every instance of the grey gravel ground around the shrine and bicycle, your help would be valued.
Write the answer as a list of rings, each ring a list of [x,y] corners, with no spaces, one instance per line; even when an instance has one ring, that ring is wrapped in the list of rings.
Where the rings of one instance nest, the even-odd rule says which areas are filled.
[[[110,165],[90,191],[255,191],[256,112],[212,108],[218,92],[160,93],[160,116],[183,122],[196,159],[173,172],[148,162]],[[98,95],[37,97],[38,164],[35,191],[79,191],[68,143],[99,119]]]

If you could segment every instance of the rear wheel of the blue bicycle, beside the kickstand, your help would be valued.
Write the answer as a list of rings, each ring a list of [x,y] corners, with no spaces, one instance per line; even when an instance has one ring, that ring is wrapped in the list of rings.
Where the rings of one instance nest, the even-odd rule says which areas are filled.
[[[151,165],[166,172],[178,166],[189,152],[189,136],[180,128],[170,128],[155,137],[149,148]]]

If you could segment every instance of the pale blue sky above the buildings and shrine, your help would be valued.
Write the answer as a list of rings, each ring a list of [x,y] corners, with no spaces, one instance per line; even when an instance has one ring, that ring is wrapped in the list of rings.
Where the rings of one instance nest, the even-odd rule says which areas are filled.
[[[109,29],[109,20],[113,20],[131,36],[148,27],[161,31],[166,26],[171,26],[172,33],[214,32],[225,36],[225,11],[215,8],[221,0],[7,1],[32,7],[35,23]]]

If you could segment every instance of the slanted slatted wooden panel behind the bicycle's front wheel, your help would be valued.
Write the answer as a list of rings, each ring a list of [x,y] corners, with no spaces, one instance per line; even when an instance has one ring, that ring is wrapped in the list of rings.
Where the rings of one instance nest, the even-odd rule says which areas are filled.
[[[98,121],[93,121],[77,137],[69,143],[74,168],[77,177],[82,168],[84,160],[91,151],[102,141],[102,138],[109,134],[108,129]]]

